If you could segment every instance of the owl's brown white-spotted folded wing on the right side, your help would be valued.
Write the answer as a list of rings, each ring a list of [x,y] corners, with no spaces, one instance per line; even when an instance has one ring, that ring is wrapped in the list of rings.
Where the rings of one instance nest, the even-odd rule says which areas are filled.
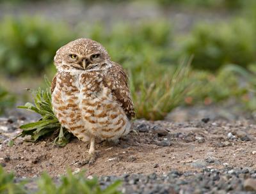
[[[128,119],[134,117],[135,112],[128,87],[128,76],[122,66],[113,62],[112,67],[108,69],[104,84],[111,88],[113,96],[122,105]]]

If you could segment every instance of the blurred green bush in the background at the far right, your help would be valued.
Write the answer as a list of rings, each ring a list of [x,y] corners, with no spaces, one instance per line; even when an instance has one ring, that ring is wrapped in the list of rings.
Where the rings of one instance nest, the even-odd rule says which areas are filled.
[[[184,41],[180,53],[193,54],[192,65],[218,70],[225,64],[248,66],[256,61],[256,26],[244,19],[199,24]]]

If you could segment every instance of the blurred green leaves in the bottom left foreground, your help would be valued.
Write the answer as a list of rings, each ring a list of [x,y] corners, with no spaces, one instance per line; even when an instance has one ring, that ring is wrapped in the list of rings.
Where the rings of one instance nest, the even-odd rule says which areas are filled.
[[[43,173],[37,179],[36,191],[31,191],[26,187],[26,182],[28,181],[19,181],[17,183],[13,173],[7,173],[3,167],[0,166],[0,193],[3,194],[119,194],[121,192],[118,191],[118,187],[122,184],[121,181],[117,180],[107,188],[101,189],[96,177],[86,179],[84,171],[78,174],[72,174],[71,170],[67,170],[67,175],[60,177],[59,184],[54,183],[48,174]]]

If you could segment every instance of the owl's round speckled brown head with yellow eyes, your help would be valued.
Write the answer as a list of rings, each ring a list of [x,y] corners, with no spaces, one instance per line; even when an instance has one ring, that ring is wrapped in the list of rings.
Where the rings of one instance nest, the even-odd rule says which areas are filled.
[[[106,49],[97,41],[79,38],[61,47],[54,57],[58,70],[99,70],[111,61]]]

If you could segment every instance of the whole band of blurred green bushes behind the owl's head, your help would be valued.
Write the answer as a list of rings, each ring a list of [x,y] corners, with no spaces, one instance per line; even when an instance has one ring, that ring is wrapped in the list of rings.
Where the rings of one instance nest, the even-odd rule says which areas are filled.
[[[165,20],[115,24],[110,29],[103,24],[81,24],[71,30],[61,22],[21,17],[1,20],[0,28],[0,68],[4,75],[42,75],[53,68],[56,50],[79,37],[99,41],[113,61],[132,73],[145,70],[152,77],[166,66],[177,66],[184,56],[194,56],[193,68],[211,71],[225,64],[246,67],[256,61],[256,25],[246,18],[201,22],[185,35],[173,33]]]

